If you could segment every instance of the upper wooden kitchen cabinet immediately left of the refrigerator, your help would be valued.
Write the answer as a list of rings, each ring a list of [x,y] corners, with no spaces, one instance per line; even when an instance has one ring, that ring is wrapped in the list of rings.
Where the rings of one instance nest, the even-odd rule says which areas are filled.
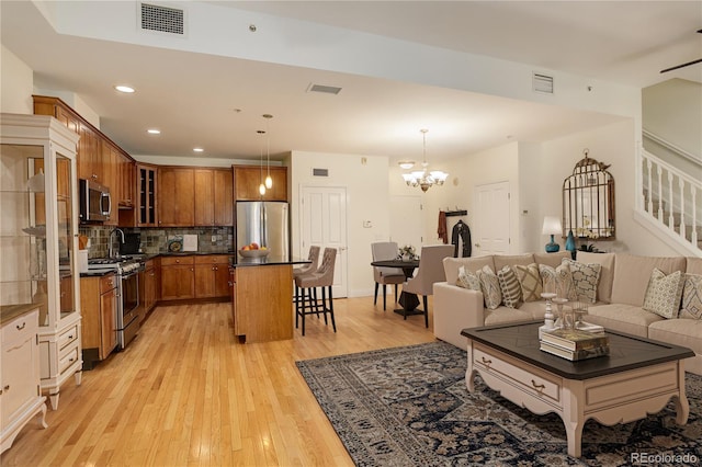
[[[234,225],[234,180],[230,169],[195,169],[195,225]]]

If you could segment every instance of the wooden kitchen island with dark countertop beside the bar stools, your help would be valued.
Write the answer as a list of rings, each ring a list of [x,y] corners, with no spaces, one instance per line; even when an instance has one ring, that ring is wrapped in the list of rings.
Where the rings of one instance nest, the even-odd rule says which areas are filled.
[[[309,260],[233,257],[234,333],[241,342],[293,339],[293,265]]]

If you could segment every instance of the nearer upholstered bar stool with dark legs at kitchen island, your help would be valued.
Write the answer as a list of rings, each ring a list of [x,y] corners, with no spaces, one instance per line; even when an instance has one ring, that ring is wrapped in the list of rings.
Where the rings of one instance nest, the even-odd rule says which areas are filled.
[[[305,335],[305,316],[324,314],[325,324],[328,324],[327,312],[331,317],[333,332],[337,332],[337,323],[333,319],[333,300],[331,286],[333,284],[333,265],[337,260],[336,248],[325,248],[321,257],[321,265],[314,273],[295,277],[295,328],[298,327],[299,317],[303,318],[303,335]],[[317,299],[316,288],[321,288],[321,301]],[[328,294],[328,297],[327,297]]]

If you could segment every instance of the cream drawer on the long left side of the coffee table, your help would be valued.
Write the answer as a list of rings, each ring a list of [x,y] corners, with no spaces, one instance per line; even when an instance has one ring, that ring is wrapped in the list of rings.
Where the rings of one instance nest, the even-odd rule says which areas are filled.
[[[506,362],[495,355],[487,354],[480,349],[474,348],[473,362],[484,372],[495,374],[502,380],[532,395],[551,399],[561,405],[561,386],[557,377],[552,377],[539,371],[539,368],[522,368]]]

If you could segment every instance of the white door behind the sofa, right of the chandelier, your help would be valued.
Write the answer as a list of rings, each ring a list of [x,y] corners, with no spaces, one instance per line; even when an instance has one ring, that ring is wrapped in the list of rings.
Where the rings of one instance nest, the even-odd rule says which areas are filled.
[[[475,187],[473,255],[509,253],[509,182]]]

